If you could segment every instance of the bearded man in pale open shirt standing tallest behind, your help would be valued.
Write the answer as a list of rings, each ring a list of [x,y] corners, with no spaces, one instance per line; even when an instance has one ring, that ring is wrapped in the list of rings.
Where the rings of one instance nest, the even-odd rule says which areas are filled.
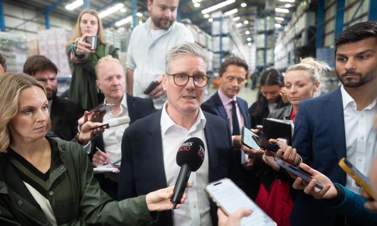
[[[148,97],[161,108],[167,100],[162,89],[165,54],[176,44],[194,42],[192,33],[175,21],[179,0],[148,0],[150,17],[133,29],[127,50],[127,93],[145,98],[143,93],[150,82],[160,82]]]

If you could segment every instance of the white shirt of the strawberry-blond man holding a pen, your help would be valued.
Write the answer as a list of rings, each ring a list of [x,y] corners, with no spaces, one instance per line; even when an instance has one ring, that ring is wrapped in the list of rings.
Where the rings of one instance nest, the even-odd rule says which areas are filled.
[[[106,104],[106,98],[104,100]],[[119,117],[128,116],[128,108],[127,108],[127,95],[124,93],[123,99],[120,104],[120,111],[118,115],[115,117],[112,111],[107,111],[107,113],[103,116],[103,122],[107,122],[110,119],[115,119]],[[122,156],[121,145],[122,145],[122,137],[124,130],[129,126],[129,124],[118,125],[116,127],[110,127],[103,132],[103,144],[104,144],[104,151],[109,154],[109,159],[112,162],[119,160]],[[102,150],[103,151],[103,150]]]

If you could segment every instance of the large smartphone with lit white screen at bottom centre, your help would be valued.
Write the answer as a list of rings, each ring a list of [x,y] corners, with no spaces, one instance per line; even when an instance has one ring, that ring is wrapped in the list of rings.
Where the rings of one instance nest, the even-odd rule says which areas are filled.
[[[211,198],[219,204],[226,214],[231,214],[241,207],[253,213],[241,219],[241,226],[274,226],[274,221],[268,217],[244,192],[241,191],[230,179],[224,178],[205,186]]]

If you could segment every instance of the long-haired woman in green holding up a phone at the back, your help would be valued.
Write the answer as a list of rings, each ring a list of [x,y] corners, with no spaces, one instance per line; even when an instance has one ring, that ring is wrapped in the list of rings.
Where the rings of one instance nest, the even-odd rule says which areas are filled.
[[[91,44],[85,40],[89,36],[98,35],[97,50],[89,50]],[[103,35],[102,20],[93,9],[81,11],[77,19],[75,37],[66,47],[72,80],[69,87],[69,99],[79,102],[85,110],[92,109],[103,101],[103,94],[96,85],[95,65],[104,56],[118,57],[117,49],[106,42]]]

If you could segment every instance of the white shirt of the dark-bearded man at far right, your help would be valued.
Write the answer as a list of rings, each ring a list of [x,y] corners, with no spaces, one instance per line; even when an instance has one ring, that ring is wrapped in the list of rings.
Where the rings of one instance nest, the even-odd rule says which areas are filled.
[[[344,127],[346,134],[346,156],[361,173],[367,175],[377,149],[377,134],[373,128],[376,101],[369,104],[362,111],[357,110],[356,102],[344,89],[340,87],[343,99]],[[359,194],[360,187],[356,186],[351,176],[347,175],[346,188]]]

